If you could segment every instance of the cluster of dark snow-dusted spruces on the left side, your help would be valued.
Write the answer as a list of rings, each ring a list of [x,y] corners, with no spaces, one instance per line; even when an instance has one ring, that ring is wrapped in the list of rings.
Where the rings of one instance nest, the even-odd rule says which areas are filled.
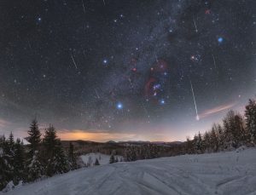
[[[78,169],[78,157],[70,143],[66,154],[57,137],[55,128],[49,125],[42,136],[36,119],[32,120],[24,146],[20,139],[14,140],[10,133],[9,138],[0,137],[0,190],[10,181],[14,185],[20,181],[36,181],[43,176],[52,176],[66,173],[71,169]]]

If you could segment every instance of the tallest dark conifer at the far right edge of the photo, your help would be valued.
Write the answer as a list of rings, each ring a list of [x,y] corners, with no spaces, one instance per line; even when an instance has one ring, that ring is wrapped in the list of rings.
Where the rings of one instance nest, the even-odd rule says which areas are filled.
[[[249,100],[245,111],[246,128],[249,135],[249,141],[256,144],[256,101]]]

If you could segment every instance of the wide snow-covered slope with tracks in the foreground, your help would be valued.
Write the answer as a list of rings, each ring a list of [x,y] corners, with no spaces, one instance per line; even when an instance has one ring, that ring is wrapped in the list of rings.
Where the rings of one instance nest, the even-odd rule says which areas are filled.
[[[256,194],[256,149],[78,169],[6,194]]]

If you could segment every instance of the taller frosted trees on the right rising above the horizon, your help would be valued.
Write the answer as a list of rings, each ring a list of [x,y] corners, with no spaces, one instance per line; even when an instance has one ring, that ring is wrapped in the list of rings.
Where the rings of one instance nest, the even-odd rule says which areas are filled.
[[[193,140],[186,141],[187,153],[220,152],[240,146],[256,144],[256,101],[249,100],[244,117],[230,111],[223,119],[223,125],[214,123],[204,135],[199,132]]]

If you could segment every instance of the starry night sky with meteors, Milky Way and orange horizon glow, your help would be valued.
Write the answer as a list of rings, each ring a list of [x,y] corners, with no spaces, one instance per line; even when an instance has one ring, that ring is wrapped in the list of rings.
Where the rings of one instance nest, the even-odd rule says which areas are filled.
[[[254,0],[3,0],[0,133],[183,141],[256,87]]]

